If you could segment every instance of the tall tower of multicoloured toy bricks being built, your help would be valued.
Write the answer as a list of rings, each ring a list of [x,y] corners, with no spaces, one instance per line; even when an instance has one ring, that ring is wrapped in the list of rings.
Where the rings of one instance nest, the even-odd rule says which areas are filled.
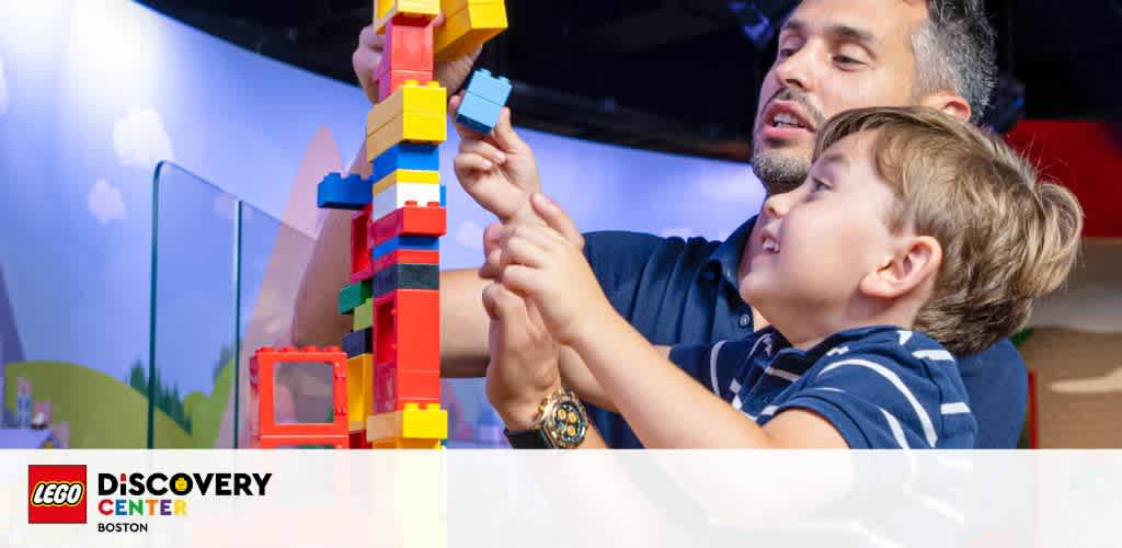
[[[445,22],[434,28],[441,11]],[[329,174],[318,197],[321,208],[355,211],[350,283],[339,293],[339,312],[353,317],[342,341],[348,435],[350,447],[432,449],[448,437],[439,293],[439,239],[447,232],[439,146],[448,92],[433,81],[434,60],[460,57],[490,39],[506,28],[506,11],[502,0],[379,0],[375,28],[386,45],[375,72],[378,103],[366,126],[373,174]],[[468,94],[477,81],[484,81],[479,74]],[[472,127],[490,131],[491,117],[481,116]]]

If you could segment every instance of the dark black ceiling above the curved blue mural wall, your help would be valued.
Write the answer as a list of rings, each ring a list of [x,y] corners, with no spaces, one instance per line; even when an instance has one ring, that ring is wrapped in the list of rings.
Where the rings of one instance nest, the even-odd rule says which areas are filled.
[[[144,0],[248,49],[353,83],[373,0]],[[793,0],[507,0],[509,29],[479,65],[515,83],[519,125],[627,146],[746,159],[774,44],[745,7]],[[563,6],[563,9],[559,7]],[[1011,90],[1001,127],[1030,118],[1122,120],[1122,0],[987,0]],[[1018,84],[1023,84],[1020,88]],[[1006,116],[1002,116],[1006,115]]]

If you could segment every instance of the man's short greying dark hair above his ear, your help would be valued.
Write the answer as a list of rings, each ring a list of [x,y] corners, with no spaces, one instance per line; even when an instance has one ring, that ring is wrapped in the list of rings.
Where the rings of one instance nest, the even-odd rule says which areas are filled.
[[[927,21],[912,34],[912,94],[957,92],[971,103],[976,122],[997,80],[996,33],[982,0],[927,0]]]

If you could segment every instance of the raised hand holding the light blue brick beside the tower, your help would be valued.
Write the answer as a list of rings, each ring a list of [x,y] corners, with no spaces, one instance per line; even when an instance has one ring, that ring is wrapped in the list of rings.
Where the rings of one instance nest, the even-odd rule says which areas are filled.
[[[452,119],[462,97],[449,101]],[[511,109],[504,107],[490,135],[481,135],[456,124],[460,153],[453,166],[456,177],[479,206],[495,213],[504,225],[536,219],[527,207],[530,194],[541,190],[534,153],[511,125]]]

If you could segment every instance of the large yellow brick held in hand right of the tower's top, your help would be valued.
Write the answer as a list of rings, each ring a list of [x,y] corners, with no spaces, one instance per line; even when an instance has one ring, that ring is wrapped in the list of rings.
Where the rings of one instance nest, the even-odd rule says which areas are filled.
[[[506,30],[503,0],[442,0],[444,26],[434,30],[436,61],[460,58]]]

